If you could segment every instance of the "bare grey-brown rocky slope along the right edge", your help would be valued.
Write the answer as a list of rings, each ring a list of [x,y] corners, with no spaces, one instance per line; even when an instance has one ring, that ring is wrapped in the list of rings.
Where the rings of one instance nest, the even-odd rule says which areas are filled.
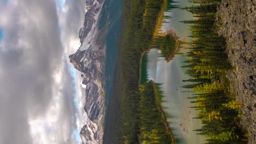
[[[249,143],[256,143],[256,9],[255,0],[223,0],[217,19],[218,33],[227,41],[226,52],[234,70],[228,73],[231,89],[243,104],[242,127]]]

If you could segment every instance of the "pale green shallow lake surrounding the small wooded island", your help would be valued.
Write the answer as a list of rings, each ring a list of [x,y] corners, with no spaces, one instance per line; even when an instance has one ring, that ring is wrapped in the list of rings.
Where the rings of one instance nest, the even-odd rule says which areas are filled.
[[[177,1],[177,0],[176,0]],[[162,31],[166,32],[170,29],[175,31],[180,40],[190,41],[188,38],[190,31],[188,25],[179,21],[193,19],[193,16],[187,11],[178,9],[191,5],[187,0],[171,1],[170,9],[165,13],[166,16],[171,16],[168,23],[164,23]],[[175,6],[176,5],[176,6]],[[186,47],[186,45],[184,45]],[[180,52],[186,52],[186,49],[181,49]],[[187,57],[176,55],[170,62],[166,62],[164,58],[159,56],[159,51],[152,49],[147,54],[147,74],[149,79],[155,82],[162,83],[162,91],[165,93],[162,102],[165,113],[168,115],[167,121],[170,124],[174,138],[177,143],[199,144],[204,143],[205,139],[201,135],[196,135],[193,131],[201,127],[199,119],[196,117],[196,110],[190,108],[193,104],[190,103],[191,93],[184,93],[189,89],[182,88],[185,84],[182,80],[189,79],[188,75],[184,74],[185,69],[181,68],[184,65],[183,61]],[[188,84],[188,83],[186,83]]]

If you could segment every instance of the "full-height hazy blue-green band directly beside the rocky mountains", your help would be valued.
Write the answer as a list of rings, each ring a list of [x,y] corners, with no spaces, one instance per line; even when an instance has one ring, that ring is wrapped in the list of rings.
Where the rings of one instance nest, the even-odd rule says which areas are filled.
[[[123,1],[105,0],[100,28],[106,30],[106,65],[105,65],[105,117],[103,143],[113,143],[118,136],[117,119],[119,117],[117,88],[117,53],[123,13]],[[104,33],[102,34],[104,35]]]

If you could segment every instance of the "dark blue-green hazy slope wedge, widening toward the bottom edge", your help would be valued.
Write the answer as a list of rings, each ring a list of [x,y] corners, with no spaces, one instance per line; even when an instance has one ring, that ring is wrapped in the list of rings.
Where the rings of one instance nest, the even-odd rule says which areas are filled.
[[[121,58],[121,45],[123,44],[123,28],[124,28],[124,17],[123,17],[123,9],[121,10],[120,16],[120,29],[118,33],[118,40],[117,40],[117,53],[115,57],[115,66],[114,66],[114,74],[113,74],[113,81],[111,83],[112,87],[110,87],[110,94],[108,97],[108,105],[104,111],[104,119],[103,119],[103,143],[110,143],[116,142],[118,137],[118,127],[119,127],[119,115],[120,115],[120,88],[118,87],[120,84],[120,61]],[[106,105],[106,101],[104,101]],[[107,124],[106,124],[107,123]]]

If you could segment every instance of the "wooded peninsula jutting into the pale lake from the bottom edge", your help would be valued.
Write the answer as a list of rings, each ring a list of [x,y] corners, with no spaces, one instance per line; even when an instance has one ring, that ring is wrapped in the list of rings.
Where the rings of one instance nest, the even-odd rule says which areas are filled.
[[[139,88],[139,143],[172,143],[172,134],[161,109],[159,83],[149,81]]]

